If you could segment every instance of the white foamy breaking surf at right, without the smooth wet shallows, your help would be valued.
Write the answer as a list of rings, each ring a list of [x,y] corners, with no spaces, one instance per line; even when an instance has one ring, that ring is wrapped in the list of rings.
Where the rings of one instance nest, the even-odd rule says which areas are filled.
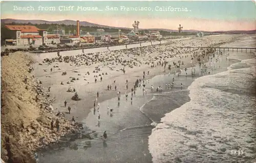
[[[255,47],[252,38],[230,46],[245,47],[244,43]],[[237,63],[227,71],[197,78],[188,87],[190,101],[165,114],[153,129],[149,137],[153,162],[255,161],[255,54],[229,53],[228,59]]]

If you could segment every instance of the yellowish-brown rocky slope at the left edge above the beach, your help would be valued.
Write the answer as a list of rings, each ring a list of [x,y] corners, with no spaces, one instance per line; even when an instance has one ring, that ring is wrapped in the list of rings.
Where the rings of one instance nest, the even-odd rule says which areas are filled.
[[[60,117],[60,131],[50,129],[51,119],[57,117],[51,100],[29,72],[34,62],[30,55],[16,52],[1,62],[1,158],[8,163],[33,163],[33,151],[55,142],[72,126]]]

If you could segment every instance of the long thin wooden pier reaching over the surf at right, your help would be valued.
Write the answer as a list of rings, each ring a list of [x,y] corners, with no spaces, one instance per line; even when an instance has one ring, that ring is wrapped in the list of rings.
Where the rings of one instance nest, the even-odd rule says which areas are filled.
[[[256,51],[256,47],[193,47],[193,46],[180,46],[178,48],[205,48],[205,49],[215,49],[219,51],[245,51],[245,52],[251,52],[251,51]]]

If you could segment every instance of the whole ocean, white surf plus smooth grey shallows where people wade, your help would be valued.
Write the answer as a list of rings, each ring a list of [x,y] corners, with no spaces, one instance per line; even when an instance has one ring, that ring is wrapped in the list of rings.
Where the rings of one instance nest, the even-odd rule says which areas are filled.
[[[225,46],[255,47],[255,40],[250,37]],[[142,88],[136,91],[133,102],[131,93],[127,100],[121,95],[120,105],[117,98],[101,102],[99,112],[94,114],[92,108],[82,121],[87,126],[82,132],[92,132],[92,140],[76,140],[68,148],[44,152],[40,161],[255,161],[255,54],[228,51],[218,58],[210,75],[192,77],[191,68],[187,76],[184,70],[179,77],[158,75],[146,84],[146,95]],[[199,66],[195,68],[199,74]],[[165,88],[173,77],[174,88]],[[162,86],[163,92],[151,92],[151,85]],[[114,109],[112,116],[108,106]],[[104,131],[107,141],[102,141]]]

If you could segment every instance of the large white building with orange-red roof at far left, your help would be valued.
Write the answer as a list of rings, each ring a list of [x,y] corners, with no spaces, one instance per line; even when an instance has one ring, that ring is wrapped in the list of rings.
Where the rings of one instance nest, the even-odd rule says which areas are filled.
[[[47,43],[47,30],[34,25],[5,25],[1,29],[1,40],[5,45],[42,45]]]

